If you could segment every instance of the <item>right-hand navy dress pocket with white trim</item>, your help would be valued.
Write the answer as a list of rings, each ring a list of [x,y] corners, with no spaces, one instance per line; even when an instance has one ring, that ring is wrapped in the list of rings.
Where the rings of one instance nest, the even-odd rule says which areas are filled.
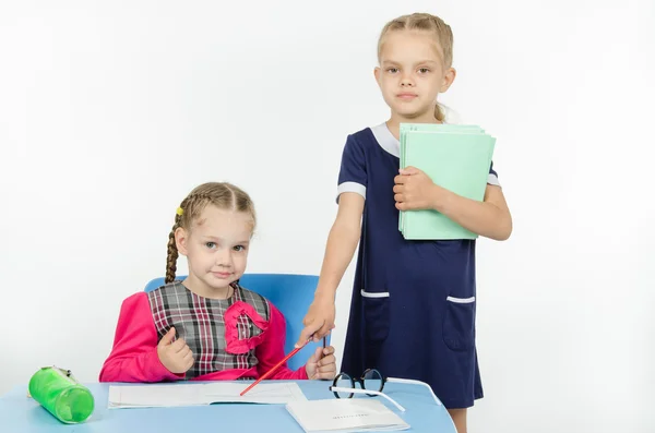
[[[445,298],[443,341],[452,350],[465,351],[475,345],[475,297]]]

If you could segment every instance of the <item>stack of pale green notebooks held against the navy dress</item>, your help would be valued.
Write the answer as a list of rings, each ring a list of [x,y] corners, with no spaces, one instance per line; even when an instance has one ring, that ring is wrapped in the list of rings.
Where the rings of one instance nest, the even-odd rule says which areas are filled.
[[[413,166],[434,183],[483,201],[496,139],[476,125],[401,123],[401,167]],[[431,209],[402,211],[407,240],[476,239],[477,234]]]

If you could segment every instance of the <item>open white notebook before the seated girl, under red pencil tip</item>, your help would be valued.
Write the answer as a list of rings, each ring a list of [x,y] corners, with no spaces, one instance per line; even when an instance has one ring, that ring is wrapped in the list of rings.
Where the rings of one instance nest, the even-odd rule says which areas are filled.
[[[204,406],[214,402],[252,402],[286,405],[307,401],[294,382],[261,382],[240,396],[250,382],[213,382],[209,384],[110,385],[109,409]]]

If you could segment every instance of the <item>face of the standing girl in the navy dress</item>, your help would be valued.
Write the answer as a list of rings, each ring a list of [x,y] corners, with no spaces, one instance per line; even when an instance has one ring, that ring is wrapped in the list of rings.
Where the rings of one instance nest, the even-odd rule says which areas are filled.
[[[388,33],[374,74],[394,117],[425,122],[434,121],[437,95],[455,79],[455,71],[443,65],[434,35],[426,31]]]

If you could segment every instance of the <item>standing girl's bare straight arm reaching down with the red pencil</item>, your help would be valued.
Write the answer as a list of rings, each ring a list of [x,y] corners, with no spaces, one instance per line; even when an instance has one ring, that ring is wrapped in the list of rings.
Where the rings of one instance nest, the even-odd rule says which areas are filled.
[[[338,211],[327,236],[314,301],[305,317],[305,329],[300,333],[297,346],[303,345],[312,334],[314,340],[319,340],[334,327],[334,298],[359,243],[364,203],[364,196],[356,192],[340,195]]]

